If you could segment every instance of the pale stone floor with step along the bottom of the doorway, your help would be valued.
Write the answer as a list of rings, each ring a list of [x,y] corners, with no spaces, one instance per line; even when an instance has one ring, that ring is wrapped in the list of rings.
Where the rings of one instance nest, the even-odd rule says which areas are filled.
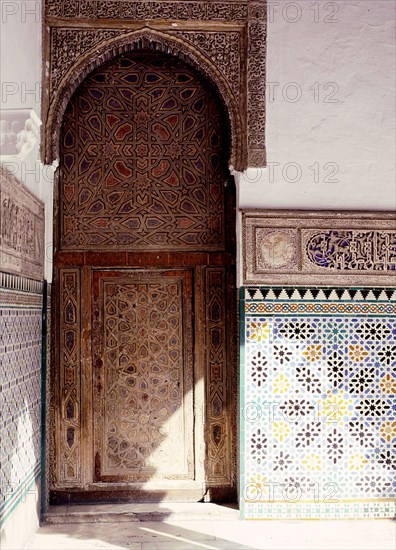
[[[209,505],[207,513],[194,509],[173,511],[162,521],[131,519],[128,510],[115,522],[93,506],[64,507],[64,521],[43,525],[28,548],[32,550],[88,550],[97,548],[131,550],[184,549],[378,549],[396,548],[396,523],[391,520],[240,521],[236,510]],[[190,505],[191,506],[191,505]],[[76,517],[76,508],[81,516]],[[110,512],[112,507],[110,507]],[[184,510],[184,513],[181,513]],[[206,510],[206,509],[205,509]],[[100,513],[98,513],[100,511]],[[74,523],[77,521],[77,523]]]

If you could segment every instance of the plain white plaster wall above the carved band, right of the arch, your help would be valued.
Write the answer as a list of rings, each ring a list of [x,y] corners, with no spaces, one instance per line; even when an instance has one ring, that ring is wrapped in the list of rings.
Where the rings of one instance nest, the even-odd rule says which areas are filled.
[[[396,208],[394,20],[392,0],[269,2],[269,165],[240,208]]]

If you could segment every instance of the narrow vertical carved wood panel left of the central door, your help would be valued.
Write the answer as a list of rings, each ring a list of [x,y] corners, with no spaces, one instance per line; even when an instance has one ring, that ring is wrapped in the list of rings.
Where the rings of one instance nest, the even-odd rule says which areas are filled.
[[[81,483],[81,311],[80,270],[59,272],[58,481]]]

